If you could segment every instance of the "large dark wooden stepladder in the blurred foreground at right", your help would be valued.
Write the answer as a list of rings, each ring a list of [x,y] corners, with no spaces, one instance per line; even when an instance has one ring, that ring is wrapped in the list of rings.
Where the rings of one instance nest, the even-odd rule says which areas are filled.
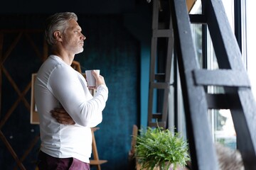
[[[202,14],[193,16],[185,0],[170,3],[193,169],[218,169],[207,113],[222,108],[230,109],[245,169],[256,169],[255,99],[222,1],[202,0]],[[219,69],[198,67],[191,23],[208,26]],[[208,94],[208,86],[221,86],[225,93]]]

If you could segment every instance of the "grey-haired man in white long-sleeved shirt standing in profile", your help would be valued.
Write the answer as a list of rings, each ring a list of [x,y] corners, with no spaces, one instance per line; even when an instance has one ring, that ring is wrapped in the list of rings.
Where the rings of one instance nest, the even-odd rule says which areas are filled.
[[[38,168],[43,170],[90,169],[90,128],[101,123],[108,97],[100,74],[93,72],[97,93],[92,96],[84,77],[70,67],[75,55],[83,51],[85,40],[77,21],[75,13],[69,12],[55,13],[46,20],[51,55],[40,67],[35,82],[41,132]]]

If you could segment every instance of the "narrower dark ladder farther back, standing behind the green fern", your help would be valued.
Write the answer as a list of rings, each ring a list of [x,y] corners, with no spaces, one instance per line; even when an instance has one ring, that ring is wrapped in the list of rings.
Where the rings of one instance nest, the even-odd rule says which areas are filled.
[[[153,1],[148,108],[148,125],[156,127],[158,124],[162,128],[167,126],[169,87],[171,86],[170,63],[174,47],[169,5],[162,5],[166,2],[169,4],[169,1]],[[167,10],[163,9],[165,7],[167,7]],[[161,20],[166,16],[168,16],[167,20]],[[165,68],[159,67],[159,65],[163,65],[163,62]],[[154,98],[156,98],[156,101],[154,101]]]

